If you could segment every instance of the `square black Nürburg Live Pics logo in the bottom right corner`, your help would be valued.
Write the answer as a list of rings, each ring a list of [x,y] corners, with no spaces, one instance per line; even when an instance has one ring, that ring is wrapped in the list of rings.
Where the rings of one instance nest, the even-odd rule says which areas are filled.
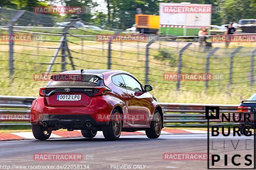
[[[205,119],[208,169],[256,168],[255,109],[206,106]]]

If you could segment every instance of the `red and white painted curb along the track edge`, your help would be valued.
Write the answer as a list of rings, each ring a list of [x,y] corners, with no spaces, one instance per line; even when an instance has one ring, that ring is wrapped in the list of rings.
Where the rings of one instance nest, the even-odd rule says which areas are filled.
[[[173,135],[173,134],[205,134],[207,131],[204,130],[187,130],[187,129],[162,129],[161,135]],[[122,132],[121,136],[132,136],[132,135],[146,135],[145,131],[137,132]],[[57,130],[52,131],[51,138],[73,138],[83,137],[80,130],[66,131]],[[103,137],[102,131],[98,131],[96,137]],[[35,139],[32,132],[14,132],[14,133],[0,133],[0,141],[7,140],[25,140]]]

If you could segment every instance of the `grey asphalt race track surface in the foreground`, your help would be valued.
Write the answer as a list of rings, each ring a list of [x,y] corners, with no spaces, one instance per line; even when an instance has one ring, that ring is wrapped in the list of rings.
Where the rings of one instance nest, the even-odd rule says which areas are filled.
[[[225,148],[232,147],[228,141],[233,139],[236,150],[227,151],[228,155],[244,151],[243,141],[248,137],[240,137],[237,144],[236,137],[219,137],[214,147],[223,150],[223,139],[226,140]],[[253,136],[249,137],[253,140]],[[216,145],[217,144],[217,145]],[[241,144],[241,145],[240,145]],[[230,149],[229,148],[229,149]],[[239,149],[240,148],[240,149]],[[0,142],[0,165],[16,166],[55,166],[58,165],[89,165],[89,169],[127,169],[122,165],[142,165],[142,169],[207,169],[206,160],[164,160],[163,154],[168,153],[207,153],[207,134],[183,134],[183,135],[161,135],[158,139],[148,139],[145,135],[121,136],[117,141],[106,141],[104,137],[88,138],[62,138],[38,140],[20,140]],[[219,152],[219,151],[218,151]],[[252,152],[252,151],[250,151]],[[84,160],[79,161],[54,161],[34,160],[35,153],[81,153]],[[223,152],[224,153],[224,152]],[[93,155],[92,159],[86,159],[86,155]],[[237,159],[238,161],[238,159]],[[242,159],[243,162],[244,159]],[[119,165],[114,168],[114,165]],[[135,166],[134,166],[135,165]],[[230,165],[230,161],[228,161]],[[144,166],[144,167],[143,167]],[[225,168],[220,165],[219,168]],[[23,168],[24,169],[24,168]],[[36,169],[36,168],[35,168]],[[37,168],[38,169],[38,168]],[[51,168],[50,168],[51,169]],[[60,168],[59,168],[60,169]],[[62,168],[65,169],[65,168]],[[68,167],[66,167],[68,169]],[[79,168],[81,169],[81,168]]]

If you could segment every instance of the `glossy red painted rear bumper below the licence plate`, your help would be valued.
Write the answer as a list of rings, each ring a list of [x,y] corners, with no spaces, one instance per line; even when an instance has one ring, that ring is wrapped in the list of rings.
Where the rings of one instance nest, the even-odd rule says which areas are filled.
[[[49,107],[44,97],[39,96],[31,105],[30,122],[41,124],[44,120],[52,126],[83,126],[89,120],[93,125],[108,124],[109,120],[103,118],[110,115],[112,110],[112,102],[102,96],[94,97],[88,107]]]

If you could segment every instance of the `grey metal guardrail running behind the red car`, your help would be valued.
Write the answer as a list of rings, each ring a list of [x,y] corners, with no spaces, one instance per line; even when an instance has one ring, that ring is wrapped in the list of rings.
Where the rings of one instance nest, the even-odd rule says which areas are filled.
[[[17,122],[29,122],[30,107],[35,99],[36,97],[0,95],[0,122],[5,122],[0,123],[0,125],[29,125],[29,123]],[[234,113],[238,107],[238,105],[195,103],[160,104],[164,110],[164,126],[177,126],[177,123],[180,126],[202,126],[205,125],[203,123],[207,122],[204,114],[205,106],[219,106],[222,113]],[[220,120],[211,120],[211,122],[220,122]]]

